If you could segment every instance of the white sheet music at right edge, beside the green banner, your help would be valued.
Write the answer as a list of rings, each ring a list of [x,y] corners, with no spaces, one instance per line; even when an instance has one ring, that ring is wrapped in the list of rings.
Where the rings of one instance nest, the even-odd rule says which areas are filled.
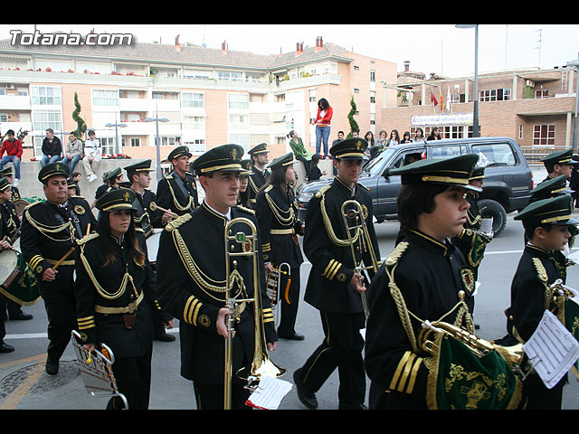
[[[523,349],[547,389],[553,388],[579,358],[579,342],[548,310]]]

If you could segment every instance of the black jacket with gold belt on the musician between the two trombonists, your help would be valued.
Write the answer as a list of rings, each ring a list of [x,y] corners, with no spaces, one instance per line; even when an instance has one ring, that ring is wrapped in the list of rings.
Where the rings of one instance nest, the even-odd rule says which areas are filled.
[[[255,208],[260,224],[263,261],[279,266],[287,262],[292,269],[304,261],[297,235],[303,235],[298,215],[298,204],[293,194],[269,185],[257,196]]]

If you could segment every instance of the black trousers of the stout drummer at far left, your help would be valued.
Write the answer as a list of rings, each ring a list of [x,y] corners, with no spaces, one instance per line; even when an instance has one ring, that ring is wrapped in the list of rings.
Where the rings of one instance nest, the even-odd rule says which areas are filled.
[[[66,345],[71,342],[71,331],[77,328],[76,300],[72,290],[74,267],[62,266],[58,278],[52,282],[40,283],[40,295],[48,316],[48,358],[58,362]]]

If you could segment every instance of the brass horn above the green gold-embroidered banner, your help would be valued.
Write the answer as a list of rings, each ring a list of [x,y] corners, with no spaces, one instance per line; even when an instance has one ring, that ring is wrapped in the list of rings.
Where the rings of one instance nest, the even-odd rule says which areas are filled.
[[[418,335],[418,347],[426,354],[432,355],[434,353],[434,336],[437,334],[450,335],[467,345],[477,357],[482,357],[491,351],[496,351],[500,354],[508,365],[517,373],[522,373],[520,364],[523,360],[523,344],[516,344],[512,346],[502,346],[493,344],[485,339],[481,339],[477,335],[457,326],[445,323],[443,321],[424,321],[422,329]]]

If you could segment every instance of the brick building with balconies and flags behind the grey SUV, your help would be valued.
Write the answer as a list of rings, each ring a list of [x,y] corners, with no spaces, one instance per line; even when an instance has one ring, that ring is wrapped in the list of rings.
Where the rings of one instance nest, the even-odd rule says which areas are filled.
[[[576,79],[576,70],[566,66],[479,74],[480,136],[516,138],[531,158],[572,146]],[[401,137],[419,127],[426,137],[432,127],[443,138],[472,135],[474,77],[426,77],[405,62],[390,88],[397,101],[382,109],[380,128],[397,129]]]

